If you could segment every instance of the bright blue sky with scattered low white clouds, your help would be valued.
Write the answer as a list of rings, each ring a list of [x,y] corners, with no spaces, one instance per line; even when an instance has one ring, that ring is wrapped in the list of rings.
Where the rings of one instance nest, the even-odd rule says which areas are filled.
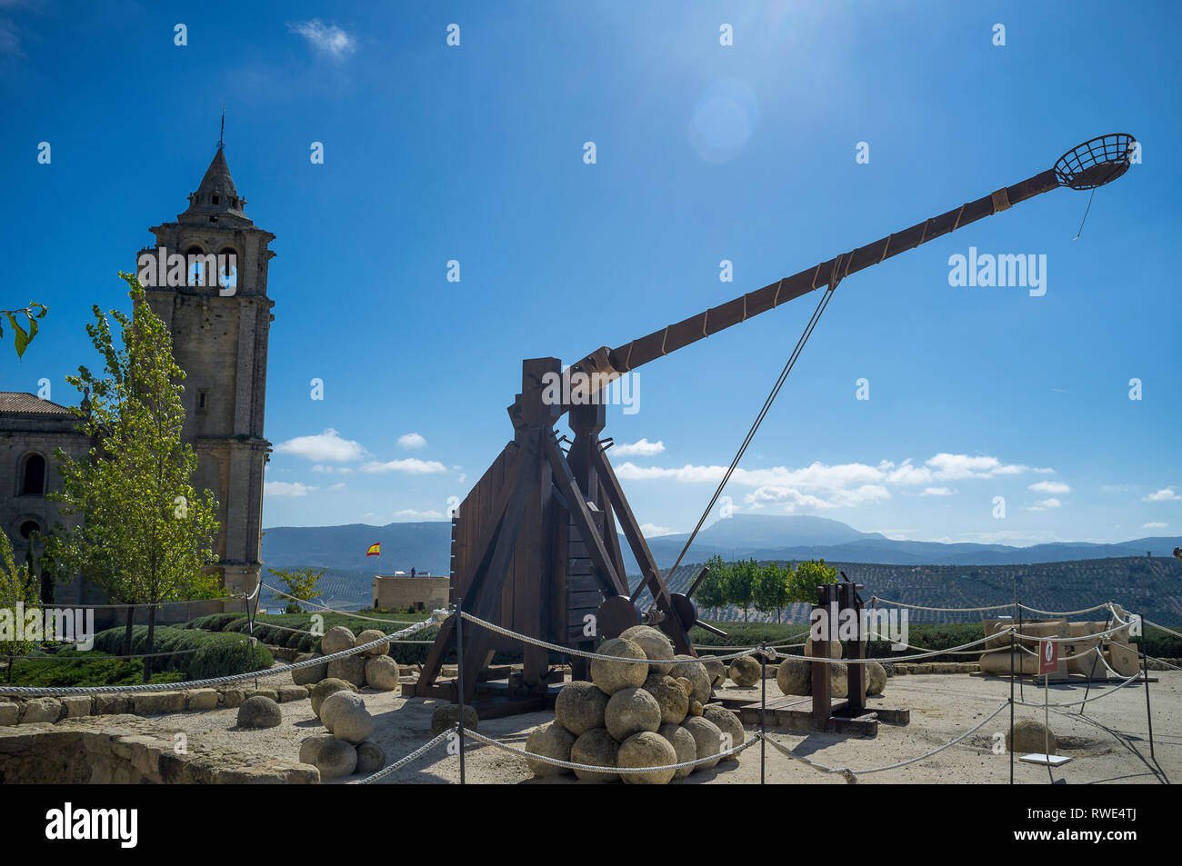
[[[90,306],[128,306],[116,272],[183,210],[222,102],[278,236],[265,526],[440,519],[511,437],[522,358],[621,345],[1126,131],[1143,162],[1079,240],[1087,194],[1054,190],[843,282],[727,495],[918,540],[1182,534],[1180,17],[0,0],[2,301],[51,307],[0,388],[77,402]],[[1045,295],[950,286],[969,247],[1045,255]],[[649,444],[610,456],[650,532],[693,528],[814,302],[643,367],[638,411],[609,409],[605,435]]]

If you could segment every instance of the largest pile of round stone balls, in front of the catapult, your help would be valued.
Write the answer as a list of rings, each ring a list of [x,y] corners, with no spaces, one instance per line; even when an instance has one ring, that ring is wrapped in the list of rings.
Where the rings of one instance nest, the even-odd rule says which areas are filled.
[[[554,721],[533,730],[526,751],[612,768],[573,770],[585,782],[623,780],[632,784],[665,784],[697,768],[635,770],[700,758],[713,758],[699,764],[710,768],[725,760],[720,753],[742,744],[746,738],[733,712],[717,704],[708,705],[714,685],[721,685],[727,676],[717,659],[676,656],[668,637],[644,625],[605,640],[597,655],[602,658],[591,660],[591,682],[574,681],[563,688],[554,705]],[[755,669],[758,676],[758,663]],[[571,773],[540,760],[527,761],[538,777]]]

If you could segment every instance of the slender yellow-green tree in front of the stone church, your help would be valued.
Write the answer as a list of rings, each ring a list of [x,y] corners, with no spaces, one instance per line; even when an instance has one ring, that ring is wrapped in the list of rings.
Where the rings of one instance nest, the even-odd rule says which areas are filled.
[[[86,333],[103,357],[105,376],[80,366],[78,376],[66,377],[86,395],[83,408],[74,409],[77,429],[97,444],[82,460],[57,450],[63,490],[51,497],[63,504],[63,514],[83,517],[64,534],[61,561],[113,599],[149,605],[150,653],[160,603],[212,598],[217,591],[217,579],[204,571],[217,561],[217,504],[209,490],[199,497],[189,483],[197,457],[181,441],[184,371],[173,358],[171,334],[135,276],[119,276],[132,302],[130,317],[110,313],[122,330],[122,347],[96,305]],[[132,617],[129,608],[124,646]],[[150,678],[145,658],[143,682]]]

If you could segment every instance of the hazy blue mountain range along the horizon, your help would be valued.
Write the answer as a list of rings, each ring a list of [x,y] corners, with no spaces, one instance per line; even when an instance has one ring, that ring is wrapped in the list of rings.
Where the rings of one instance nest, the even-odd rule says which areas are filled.
[[[409,572],[414,567],[420,572],[448,574],[450,538],[449,521],[273,527],[262,536],[262,559],[271,567],[317,566],[368,574]],[[688,538],[687,534],[650,538],[649,548],[657,565],[671,566]],[[365,551],[376,541],[382,543],[382,555],[366,556]],[[858,532],[826,517],[736,514],[700,532],[684,561],[704,562],[717,554],[728,561],[825,559],[879,565],[985,566],[1144,556],[1147,553],[1171,556],[1175,547],[1182,547],[1182,536],[1142,538],[1108,545],[1057,541],[1032,547],[900,541],[881,533]],[[639,567],[623,538],[621,548],[629,573],[638,574]]]

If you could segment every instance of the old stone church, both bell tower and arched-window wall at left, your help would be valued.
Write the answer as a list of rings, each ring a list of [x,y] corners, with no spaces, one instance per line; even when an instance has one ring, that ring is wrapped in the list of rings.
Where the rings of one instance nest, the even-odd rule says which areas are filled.
[[[173,354],[186,372],[182,437],[193,444],[197,469],[191,483],[217,500],[216,571],[229,592],[252,591],[261,571],[262,475],[271,451],[264,436],[267,341],[273,301],[267,265],[274,235],[254,226],[219,143],[189,207],[175,222],[150,230],[155,246],[137,255],[181,254],[189,265],[184,285],[148,286],[148,302],[173,336]],[[226,273],[201,273],[197,256],[225,254]],[[189,258],[194,256],[194,258]],[[212,285],[207,285],[212,284]],[[13,539],[54,522],[67,525],[45,494],[60,489],[53,451],[80,456],[89,441],[74,431],[69,409],[30,393],[0,393],[0,526]],[[61,598],[66,601],[65,598]]]

